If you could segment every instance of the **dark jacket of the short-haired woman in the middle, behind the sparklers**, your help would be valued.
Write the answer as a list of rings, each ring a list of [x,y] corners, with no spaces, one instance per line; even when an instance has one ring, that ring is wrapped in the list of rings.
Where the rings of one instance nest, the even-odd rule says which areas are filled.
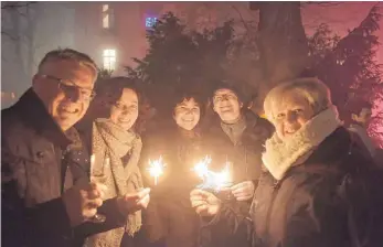
[[[142,174],[152,186],[150,204],[143,212],[146,236],[151,243],[164,241],[167,247],[196,247],[200,218],[191,207],[189,195],[201,183],[192,171],[194,163],[210,154],[202,148],[202,138],[173,127],[142,142]],[[149,159],[160,155],[167,167],[158,185],[153,185],[146,168]]]

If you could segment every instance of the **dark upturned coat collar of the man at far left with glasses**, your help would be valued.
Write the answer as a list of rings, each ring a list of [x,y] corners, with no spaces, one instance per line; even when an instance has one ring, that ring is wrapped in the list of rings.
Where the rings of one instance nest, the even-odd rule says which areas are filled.
[[[21,96],[14,107],[21,114],[23,121],[26,125],[30,125],[38,135],[45,137],[51,142],[56,143],[64,149],[72,143],[68,136],[73,136],[75,130],[71,128],[64,133],[49,115],[45,106],[32,88],[29,88]]]

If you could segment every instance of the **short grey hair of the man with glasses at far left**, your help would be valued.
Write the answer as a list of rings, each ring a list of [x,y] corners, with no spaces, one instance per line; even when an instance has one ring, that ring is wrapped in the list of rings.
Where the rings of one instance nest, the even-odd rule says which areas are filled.
[[[91,58],[91,56],[88,56],[85,53],[81,53],[81,52],[77,52],[77,51],[72,50],[72,49],[57,49],[57,50],[53,50],[53,51],[46,53],[45,56],[40,62],[40,64],[39,64],[39,72],[42,71],[42,67],[43,67],[43,65],[45,63],[47,63],[49,61],[53,61],[53,60],[76,61],[76,62],[78,62],[79,65],[83,65],[83,66],[86,66],[86,67],[91,68],[91,71],[94,74],[94,80],[97,79],[97,75],[98,75],[97,65]]]

